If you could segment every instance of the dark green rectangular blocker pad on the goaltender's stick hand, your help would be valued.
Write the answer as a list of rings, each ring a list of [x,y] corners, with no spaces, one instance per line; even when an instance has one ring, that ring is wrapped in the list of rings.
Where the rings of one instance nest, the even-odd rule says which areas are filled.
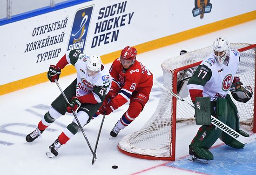
[[[210,97],[195,97],[195,123],[196,125],[211,124]]]

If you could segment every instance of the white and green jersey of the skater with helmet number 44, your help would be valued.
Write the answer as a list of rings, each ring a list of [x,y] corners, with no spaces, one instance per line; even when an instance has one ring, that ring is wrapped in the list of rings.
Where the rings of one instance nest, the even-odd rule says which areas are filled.
[[[77,72],[76,96],[81,97],[92,92],[94,99],[102,102],[102,97],[105,97],[111,88],[112,77],[103,65],[98,74],[89,76],[86,70],[89,56],[85,54],[78,57],[76,52],[71,50],[66,53],[67,62],[73,64]]]

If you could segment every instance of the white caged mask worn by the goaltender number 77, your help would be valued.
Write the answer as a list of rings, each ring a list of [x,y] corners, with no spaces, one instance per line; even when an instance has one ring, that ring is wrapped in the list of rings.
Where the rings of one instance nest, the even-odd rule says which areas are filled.
[[[222,36],[217,37],[213,43],[213,51],[214,57],[220,65],[225,61],[227,56],[229,56],[229,50],[229,41]]]

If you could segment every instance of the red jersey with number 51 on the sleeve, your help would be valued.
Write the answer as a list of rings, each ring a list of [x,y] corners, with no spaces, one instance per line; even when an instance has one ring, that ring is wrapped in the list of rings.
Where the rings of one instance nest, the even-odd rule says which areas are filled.
[[[133,92],[140,92],[149,96],[153,86],[153,74],[139,61],[135,60],[134,64],[128,70],[125,70],[118,58],[113,62],[109,72],[113,77],[111,88],[115,92],[119,92],[112,99],[116,108],[129,101]]]

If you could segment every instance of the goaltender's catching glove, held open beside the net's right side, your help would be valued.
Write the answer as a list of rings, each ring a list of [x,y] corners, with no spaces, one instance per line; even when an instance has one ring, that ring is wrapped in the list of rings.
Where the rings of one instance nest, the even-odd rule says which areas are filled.
[[[252,97],[253,91],[250,86],[244,87],[240,85],[239,87],[233,86],[230,88],[231,95],[236,101],[246,103]]]

